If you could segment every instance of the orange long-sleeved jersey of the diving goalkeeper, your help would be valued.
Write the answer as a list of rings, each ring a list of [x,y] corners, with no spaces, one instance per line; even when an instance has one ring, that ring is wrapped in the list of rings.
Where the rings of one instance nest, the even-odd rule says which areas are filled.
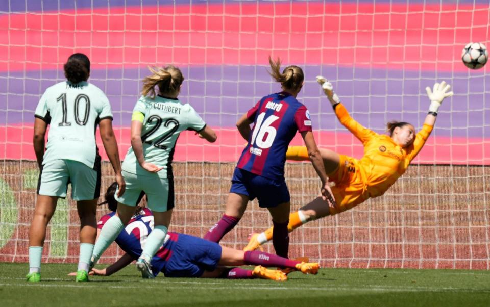
[[[432,132],[432,126],[424,124],[422,130],[416,134],[413,144],[402,148],[391,137],[364,128],[349,115],[342,104],[336,106],[335,114],[342,125],[364,145],[364,156],[357,160],[357,164],[364,181],[364,192],[369,197],[384,194],[397,181],[410,161],[419,154]]]

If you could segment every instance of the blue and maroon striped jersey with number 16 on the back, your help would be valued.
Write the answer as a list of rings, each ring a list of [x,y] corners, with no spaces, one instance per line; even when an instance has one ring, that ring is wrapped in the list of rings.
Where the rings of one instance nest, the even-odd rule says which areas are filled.
[[[254,127],[237,167],[271,179],[284,176],[287,146],[297,131],[311,131],[308,109],[280,92],[263,97],[247,112]]]

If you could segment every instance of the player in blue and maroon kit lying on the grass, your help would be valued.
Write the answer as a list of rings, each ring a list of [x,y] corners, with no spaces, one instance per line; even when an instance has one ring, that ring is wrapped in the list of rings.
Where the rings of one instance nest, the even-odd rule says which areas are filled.
[[[99,231],[117,210],[117,201],[114,199],[116,187],[116,183],[113,183],[107,189],[105,198],[112,213],[100,219],[97,224]],[[111,266],[102,270],[94,268],[93,272],[96,275],[108,276],[138,259],[153,225],[153,213],[149,209],[139,207],[125,230],[115,240],[126,254]],[[240,265],[256,267],[253,270],[225,267]],[[237,250],[198,237],[168,232],[163,246],[151,260],[151,273],[143,277],[154,278],[162,272],[165,277],[266,278],[279,281],[287,279],[283,271],[269,270],[265,267],[291,268],[305,274],[316,274],[319,265],[289,260],[260,251]]]

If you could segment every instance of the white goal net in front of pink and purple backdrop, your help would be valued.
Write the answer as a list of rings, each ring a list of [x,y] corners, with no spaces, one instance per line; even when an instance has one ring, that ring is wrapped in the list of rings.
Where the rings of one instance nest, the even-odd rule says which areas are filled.
[[[352,117],[377,133],[390,120],[419,130],[429,106],[424,88],[435,81],[447,81],[455,93],[393,187],[296,229],[290,257],[306,255],[326,267],[489,269],[490,75],[460,59],[468,42],[488,45],[489,12],[485,1],[0,2],[0,261],[28,260],[39,174],[34,110],[43,91],[64,80],[69,55],[89,56],[89,81],[112,105],[121,159],[146,66],[181,68],[186,81],[179,98],[218,134],[209,144],[183,133],[175,153],[170,230],[199,237],[225,210],[245,143],[237,119],[280,90],[267,73],[271,55],[304,69],[298,99],[311,113],[317,143],[355,158],[362,146],[336,119],[316,75],[331,80]],[[104,191],[114,177],[100,141],[99,148]],[[288,163],[286,180],[292,211],[317,196],[320,182],[310,163]],[[97,217],[107,213],[101,207]],[[250,202],[222,243],[241,249],[249,233],[271,225],[268,212]],[[78,231],[74,201],[60,199],[43,261],[76,262]],[[274,251],[271,244],[265,249]],[[112,247],[102,260],[120,254]]]

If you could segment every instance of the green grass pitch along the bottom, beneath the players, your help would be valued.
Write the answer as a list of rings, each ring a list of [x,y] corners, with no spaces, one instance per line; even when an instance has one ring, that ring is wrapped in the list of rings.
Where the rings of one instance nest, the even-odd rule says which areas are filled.
[[[143,280],[133,265],[77,284],[75,264],[43,264],[43,281],[27,283],[27,264],[0,263],[1,306],[488,306],[490,271],[322,269],[260,279]]]

